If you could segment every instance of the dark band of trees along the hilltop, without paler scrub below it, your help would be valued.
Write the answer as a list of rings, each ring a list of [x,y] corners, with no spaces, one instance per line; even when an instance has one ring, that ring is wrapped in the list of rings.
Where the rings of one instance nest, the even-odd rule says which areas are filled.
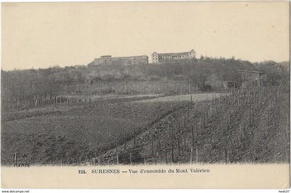
[[[98,84],[118,81],[187,80],[204,91],[213,76],[222,81],[242,82],[238,70],[261,71],[267,86],[290,84],[289,62],[248,62],[240,59],[200,57],[163,64],[131,66],[53,66],[45,69],[1,70],[1,101],[4,108],[33,107],[57,102],[66,84]]]

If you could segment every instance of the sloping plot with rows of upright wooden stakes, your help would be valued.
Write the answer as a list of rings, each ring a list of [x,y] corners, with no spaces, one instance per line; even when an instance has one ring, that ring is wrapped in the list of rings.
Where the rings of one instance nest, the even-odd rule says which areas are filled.
[[[97,161],[289,163],[288,97],[280,87],[261,87],[191,102]]]

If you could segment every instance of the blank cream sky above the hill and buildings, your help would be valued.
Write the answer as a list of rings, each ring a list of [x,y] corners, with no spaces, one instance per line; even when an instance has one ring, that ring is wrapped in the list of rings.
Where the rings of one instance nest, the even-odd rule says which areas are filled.
[[[289,1],[2,3],[3,70],[196,51],[289,60]],[[150,61],[151,62],[151,61]]]

